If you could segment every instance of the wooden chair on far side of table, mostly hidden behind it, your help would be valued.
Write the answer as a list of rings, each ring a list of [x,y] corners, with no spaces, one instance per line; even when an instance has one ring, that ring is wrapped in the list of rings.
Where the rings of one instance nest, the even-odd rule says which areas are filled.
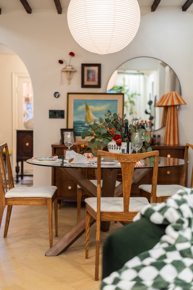
[[[82,142],[77,142],[77,153],[81,153],[80,151],[80,145],[82,144]],[[88,148],[88,143],[85,143],[85,147]],[[81,169],[79,169],[81,171]],[[96,170],[95,172],[95,179],[91,179],[90,181],[97,186],[97,174],[96,174]],[[86,177],[88,177],[88,171],[86,169]],[[101,180],[101,187],[103,184],[103,180]],[[120,182],[118,180],[116,180],[116,185],[118,186],[120,184]],[[80,221],[81,219],[81,198],[83,195],[83,189],[77,185],[77,223]]]

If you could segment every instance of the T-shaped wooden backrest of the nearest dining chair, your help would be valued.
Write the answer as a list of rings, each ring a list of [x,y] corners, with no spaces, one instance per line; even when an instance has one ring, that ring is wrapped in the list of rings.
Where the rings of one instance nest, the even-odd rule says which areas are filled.
[[[129,209],[129,199],[131,193],[131,182],[133,177],[133,170],[136,162],[146,158],[154,156],[153,175],[152,175],[152,186],[151,186],[151,203],[156,202],[156,187],[157,187],[157,171],[159,162],[159,151],[151,151],[139,154],[117,154],[107,151],[98,151],[97,159],[97,199],[101,197],[101,158],[99,156],[105,155],[116,159],[121,164],[122,180],[123,180],[123,205],[124,211]],[[140,169],[138,169],[140,170]],[[97,203],[98,209],[98,203]],[[100,209],[100,207],[99,207]]]

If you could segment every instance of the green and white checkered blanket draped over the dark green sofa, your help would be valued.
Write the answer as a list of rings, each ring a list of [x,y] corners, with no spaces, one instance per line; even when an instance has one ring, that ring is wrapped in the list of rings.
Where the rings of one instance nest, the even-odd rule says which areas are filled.
[[[133,221],[141,216],[167,224],[165,235],[153,249],[103,279],[101,289],[193,289],[193,190],[179,190],[166,202],[144,206]]]

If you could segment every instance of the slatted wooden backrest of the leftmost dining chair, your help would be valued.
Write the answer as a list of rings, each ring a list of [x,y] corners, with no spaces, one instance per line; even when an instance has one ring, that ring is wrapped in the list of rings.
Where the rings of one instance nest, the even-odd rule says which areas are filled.
[[[7,186],[5,164],[3,162],[3,149],[5,149],[9,188]],[[11,189],[13,187],[14,187],[14,182],[13,182],[13,175],[12,175],[8,146],[7,146],[7,143],[3,143],[0,145],[0,202],[5,201],[5,193],[8,191],[8,189]]]

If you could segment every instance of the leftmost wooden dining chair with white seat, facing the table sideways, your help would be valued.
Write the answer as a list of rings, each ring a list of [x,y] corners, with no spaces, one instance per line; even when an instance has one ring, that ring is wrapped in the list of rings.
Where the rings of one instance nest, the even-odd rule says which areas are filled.
[[[6,180],[5,165],[3,162],[3,149],[5,150],[8,185]],[[3,212],[7,205],[4,238],[8,233],[10,216],[13,205],[46,205],[48,208],[49,240],[52,247],[52,203],[55,212],[55,234],[57,236],[57,187],[56,186],[28,186],[14,187],[13,175],[7,143],[0,145],[0,228]]]

